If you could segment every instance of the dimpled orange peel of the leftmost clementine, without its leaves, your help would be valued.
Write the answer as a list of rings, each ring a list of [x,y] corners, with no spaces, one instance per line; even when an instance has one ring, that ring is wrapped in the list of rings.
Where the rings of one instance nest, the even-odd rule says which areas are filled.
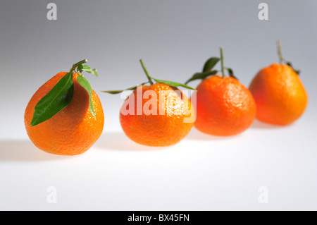
[[[104,111],[96,92],[92,90],[94,116],[89,110],[89,95],[76,81],[73,73],[74,94],[70,104],[55,116],[37,126],[31,126],[35,105],[67,72],[61,72],[48,80],[30,99],[25,109],[25,128],[30,140],[40,150],[51,154],[76,155],[89,150],[98,140],[104,128]]]

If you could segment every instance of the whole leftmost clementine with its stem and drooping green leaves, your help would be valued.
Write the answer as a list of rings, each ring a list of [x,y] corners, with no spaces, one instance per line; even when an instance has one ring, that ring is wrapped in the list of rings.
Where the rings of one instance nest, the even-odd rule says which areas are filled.
[[[25,128],[30,140],[44,152],[75,155],[89,150],[104,128],[104,111],[96,92],[80,73],[97,70],[75,63],[69,72],[57,73],[30,99]]]

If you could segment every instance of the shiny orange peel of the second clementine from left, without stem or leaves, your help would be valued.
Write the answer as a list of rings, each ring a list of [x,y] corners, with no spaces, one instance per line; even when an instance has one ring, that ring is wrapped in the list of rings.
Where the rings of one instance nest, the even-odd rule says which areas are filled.
[[[144,95],[147,90],[153,91],[149,98]],[[194,109],[190,100],[180,90],[178,90],[180,95],[175,90],[178,90],[178,88],[162,83],[137,87],[128,99],[125,100],[120,110],[120,124],[125,135],[140,145],[152,147],[175,145],[185,138],[194,125],[194,119],[189,123],[184,122],[185,118],[190,117],[185,114],[188,109],[188,114],[193,116]],[[168,93],[164,97],[166,105],[161,108],[161,114],[160,106],[163,106],[163,104],[159,102],[160,91],[167,91]],[[142,95],[137,95],[137,92],[144,95],[144,97],[142,98]],[[156,99],[157,104],[154,104],[156,105],[156,110],[154,110],[154,106],[149,107],[148,101],[151,101],[152,97]],[[129,101],[130,98],[132,98],[131,102]],[[130,104],[135,104],[134,112],[130,114],[124,112],[130,108],[130,104],[127,101]],[[139,114],[142,115],[137,114],[138,101],[142,103],[139,104],[142,107],[139,108]],[[154,111],[151,113],[147,109],[153,109]]]

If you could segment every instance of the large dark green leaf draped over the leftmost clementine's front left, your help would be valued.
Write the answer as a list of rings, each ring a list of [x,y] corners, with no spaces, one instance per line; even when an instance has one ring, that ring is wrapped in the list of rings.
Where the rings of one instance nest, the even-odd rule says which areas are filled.
[[[31,121],[31,126],[37,126],[55,116],[68,106],[73,98],[73,74],[67,73],[54,87],[37,103]]]

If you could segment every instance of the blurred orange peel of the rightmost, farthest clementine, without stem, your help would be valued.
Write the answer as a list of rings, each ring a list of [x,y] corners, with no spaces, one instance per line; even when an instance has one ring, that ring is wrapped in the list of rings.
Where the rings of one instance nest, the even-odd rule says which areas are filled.
[[[288,125],[306,109],[308,97],[299,75],[290,66],[273,63],[263,68],[252,80],[249,89],[254,95],[260,121]]]

